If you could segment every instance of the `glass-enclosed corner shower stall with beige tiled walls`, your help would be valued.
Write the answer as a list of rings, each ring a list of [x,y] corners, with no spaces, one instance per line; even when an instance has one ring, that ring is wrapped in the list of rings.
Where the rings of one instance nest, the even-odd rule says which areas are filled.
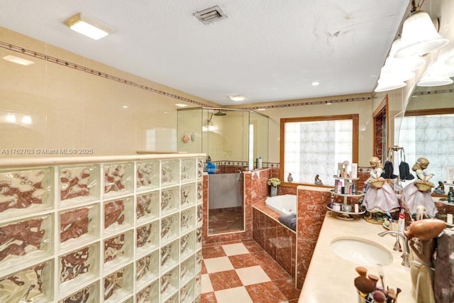
[[[268,117],[246,109],[178,110],[178,151],[205,153],[209,175],[209,234],[244,230],[243,170],[268,160]]]

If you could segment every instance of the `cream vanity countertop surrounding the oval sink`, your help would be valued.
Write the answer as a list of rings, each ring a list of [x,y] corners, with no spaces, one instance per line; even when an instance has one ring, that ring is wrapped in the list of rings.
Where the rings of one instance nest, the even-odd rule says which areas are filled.
[[[298,302],[358,302],[354,285],[358,273],[355,268],[364,265],[350,263],[331,250],[333,239],[351,236],[373,241],[389,250],[393,260],[391,264],[383,266],[384,285],[394,288],[394,290],[397,287],[402,290],[398,297],[399,302],[414,303],[415,300],[411,296],[410,268],[404,268],[401,265],[402,258],[400,258],[400,255],[402,253],[392,250],[396,238],[392,235],[378,236],[377,233],[382,231],[386,231],[386,229],[380,224],[370,224],[364,219],[343,221],[333,218],[331,211],[328,211]],[[354,257],[352,256],[352,258]],[[368,274],[379,275],[376,265],[364,267],[367,268]],[[378,283],[380,284],[380,281]]]

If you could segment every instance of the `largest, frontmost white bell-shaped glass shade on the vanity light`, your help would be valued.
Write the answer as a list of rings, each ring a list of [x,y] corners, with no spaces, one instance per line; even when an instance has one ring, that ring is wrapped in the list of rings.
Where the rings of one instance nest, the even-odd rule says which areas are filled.
[[[402,27],[402,48],[395,57],[424,55],[448,44],[433,26],[431,17],[425,11],[417,11],[406,18]]]

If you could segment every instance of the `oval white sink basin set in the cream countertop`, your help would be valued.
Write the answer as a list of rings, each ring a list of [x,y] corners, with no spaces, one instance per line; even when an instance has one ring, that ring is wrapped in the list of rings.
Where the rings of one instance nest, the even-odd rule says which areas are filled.
[[[331,241],[331,250],[344,260],[363,266],[392,263],[389,251],[372,241],[362,238],[341,237]]]

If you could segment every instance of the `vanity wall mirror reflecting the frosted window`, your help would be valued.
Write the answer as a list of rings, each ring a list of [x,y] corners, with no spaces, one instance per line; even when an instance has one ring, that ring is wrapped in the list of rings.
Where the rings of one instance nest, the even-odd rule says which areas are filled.
[[[430,161],[427,172],[434,174],[431,182],[436,187],[438,182],[452,182],[448,167],[454,167],[454,84],[416,86],[394,125],[397,144],[404,148],[410,167],[417,158],[427,158]],[[448,190],[444,186],[445,194]]]

